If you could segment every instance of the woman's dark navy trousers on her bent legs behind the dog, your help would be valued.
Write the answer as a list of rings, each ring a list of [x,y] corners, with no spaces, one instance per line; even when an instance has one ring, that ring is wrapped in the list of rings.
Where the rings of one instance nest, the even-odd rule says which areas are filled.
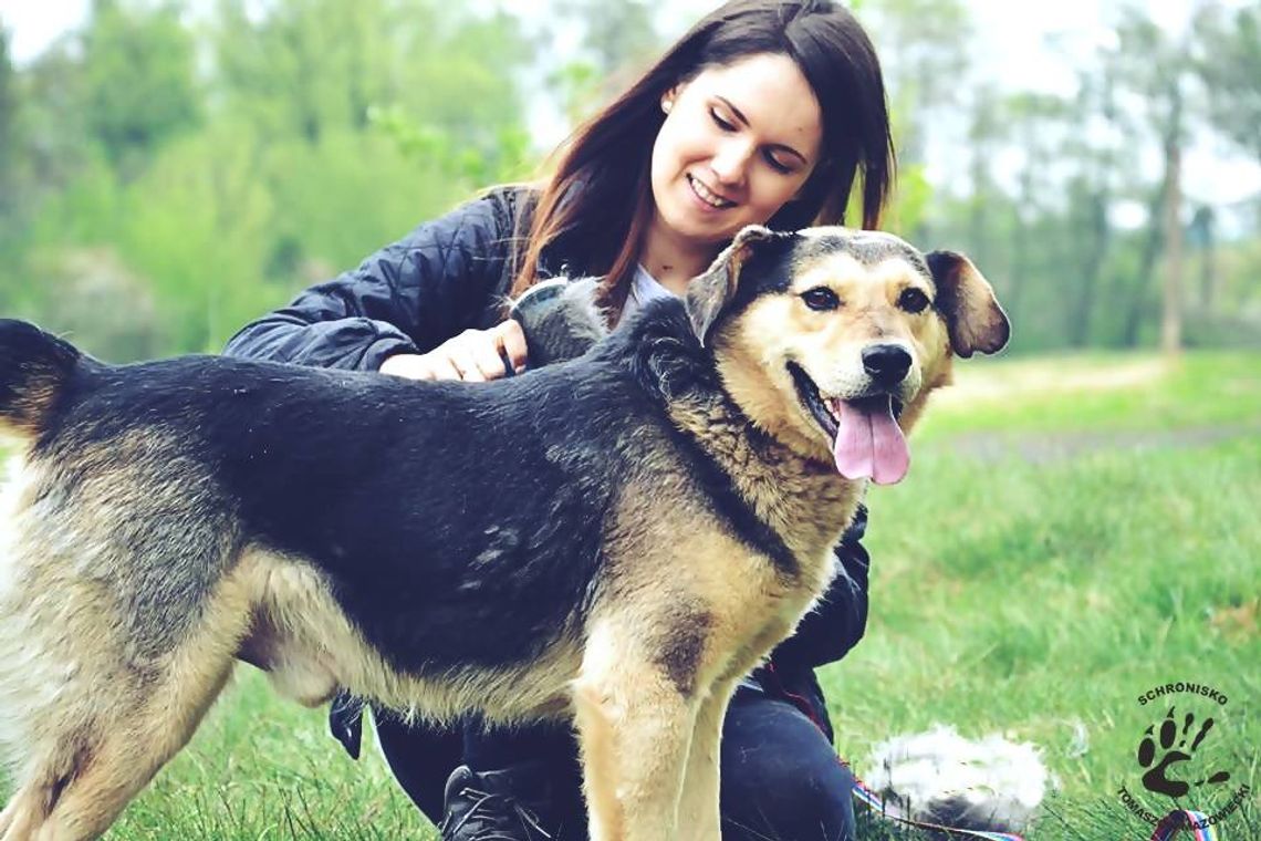
[[[817,719],[821,705],[811,715]],[[837,759],[825,733],[786,697],[754,686],[736,690],[723,725],[721,813],[725,841],[847,841],[854,836],[854,778]],[[438,823],[443,787],[460,764],[474,770],[542,762],[540,788],[522,792],[537,803],[554,837],[581,841],[586,816],[581,797],[578,745],[567,729],[521,731],[407,728],[377,716],[377,738],[390,768],[417,807]],[[687,816],[682,816],[686,820]]]

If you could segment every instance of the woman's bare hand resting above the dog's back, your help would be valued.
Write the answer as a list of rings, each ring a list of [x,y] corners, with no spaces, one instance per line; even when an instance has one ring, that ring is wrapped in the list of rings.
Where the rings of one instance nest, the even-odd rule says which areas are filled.
[[[526,366],[526,334],[521,332],[521,324],[512,319],[489,330],[464,330],[429,353],[386,357],[381,373],[406,380],[485,382],[507,373],[504,357],[512,363],[514,373]]]

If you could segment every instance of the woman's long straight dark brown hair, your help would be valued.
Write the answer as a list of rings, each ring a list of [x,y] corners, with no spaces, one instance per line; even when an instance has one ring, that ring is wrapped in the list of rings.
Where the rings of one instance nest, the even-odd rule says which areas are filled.
[[[653,213],[649,166],[665,121],[662,95],[706,68],[762,53],[797,63],[823,116],[823,154],[768,227],[844,222],[860,174],[863,227],[876,227],[892,189],[894,149],[880,62],[866,33],[828,0],[731,0],[556,151],[555,171],[533,204],[512,294],[536,282],[543,251],[564,237],[580,250],[588,274],[605,276],[607,303],[620,310]]]

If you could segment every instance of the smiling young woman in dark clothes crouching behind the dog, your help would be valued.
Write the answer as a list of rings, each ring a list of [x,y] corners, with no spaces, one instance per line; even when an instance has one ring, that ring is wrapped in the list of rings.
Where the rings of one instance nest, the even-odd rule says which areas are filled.
[[[734,0],[580,126],[540,184],[488,192],[241,330],[235,356],[484,381],[523,371],[503,301],[555,275],[601,276],[613,322],[677,294],[745,224],[839,223],[857,188],[875,227],[893,145],[875,52],[826,0]],[[860,522],[828,598],[750,675],[724,728],[724,837],[844,838],[850,778],[813,668],[866,622]],[[344,701],[344,699],[343,699]],[[334,733],[358,750],[356,706]],[[407,728],[376,711],[400,784],[443,837],[585,836],[567,730]],[[686,820],[686,816],[685,816]]]

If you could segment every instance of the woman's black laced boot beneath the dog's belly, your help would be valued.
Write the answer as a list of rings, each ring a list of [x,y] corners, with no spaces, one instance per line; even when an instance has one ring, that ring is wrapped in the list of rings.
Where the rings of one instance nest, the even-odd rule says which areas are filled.
[[[549,788],[542,763],[480,773],[460,765],[446,780],[443,841],[546,841],[538,813]]]

